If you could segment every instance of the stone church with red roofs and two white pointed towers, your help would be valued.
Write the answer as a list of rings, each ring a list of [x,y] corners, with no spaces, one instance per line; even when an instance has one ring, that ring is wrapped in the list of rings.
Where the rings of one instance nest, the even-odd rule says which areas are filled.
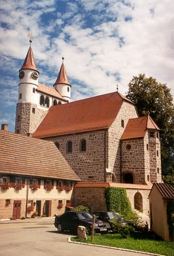
[[[64,59],[53,87],[39,76],[30,45],[19,69],[15,134],[54,143],[74,177],[74,206],[104,211],[104,187],[125,187],[132,208],[148,214],[152,183],[161,183],[159,127],[152,118],[139,117],[118,91],[70,102]]]

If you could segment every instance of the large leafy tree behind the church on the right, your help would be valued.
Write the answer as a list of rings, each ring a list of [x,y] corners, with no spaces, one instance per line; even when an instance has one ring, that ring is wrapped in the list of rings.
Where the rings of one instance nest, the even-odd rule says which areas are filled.
[[[171,90],[145,74],[133,76],[126,97],[134,102],[139,116],[150,115],[160,128],[162,173],[174,170],[174,106]]]

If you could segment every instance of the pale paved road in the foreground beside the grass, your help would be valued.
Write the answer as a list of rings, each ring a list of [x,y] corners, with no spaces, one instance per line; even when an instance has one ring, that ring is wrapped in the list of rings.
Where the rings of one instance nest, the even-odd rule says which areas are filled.
[[[144,256],[111,248],[68,243],[70,234],[58,234],[53,220],[0,223],[1,256]]]

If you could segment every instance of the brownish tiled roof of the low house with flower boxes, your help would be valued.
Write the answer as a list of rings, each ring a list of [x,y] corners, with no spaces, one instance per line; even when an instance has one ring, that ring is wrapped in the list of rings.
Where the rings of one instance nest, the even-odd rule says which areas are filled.
[[[0,130],[0,173],[80,180],[52,141]]]

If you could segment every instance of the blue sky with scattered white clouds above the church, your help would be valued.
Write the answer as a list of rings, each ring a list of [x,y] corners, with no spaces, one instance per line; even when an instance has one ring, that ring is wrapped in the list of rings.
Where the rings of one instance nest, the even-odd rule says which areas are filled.
[[[19,69],[32,34],[39,83],[64,57],[72,101],[116,91],[145,73],[174,94],[173,0],[0,0],[0,125],[15,130]]]

